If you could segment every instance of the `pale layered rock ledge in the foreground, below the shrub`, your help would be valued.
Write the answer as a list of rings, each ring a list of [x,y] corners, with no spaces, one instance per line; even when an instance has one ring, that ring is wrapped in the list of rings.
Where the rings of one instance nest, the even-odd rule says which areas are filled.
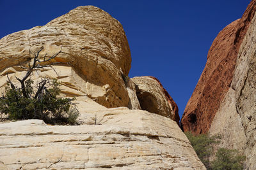
[[[52,126],[42,120],[0,124],[0,167],[205,169],[169,118],[127,108],[106,108],[95,115],[97,125]]]

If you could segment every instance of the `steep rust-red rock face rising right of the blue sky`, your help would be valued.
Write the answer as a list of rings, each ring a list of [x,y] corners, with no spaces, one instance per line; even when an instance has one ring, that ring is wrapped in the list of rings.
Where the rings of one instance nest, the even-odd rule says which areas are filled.
[[[239,47],[256,10],[252,0],[241,19],[227,25],[214,39],[207,62],[182,115],[181,127],[194,134],[205,133],[230,87]]]

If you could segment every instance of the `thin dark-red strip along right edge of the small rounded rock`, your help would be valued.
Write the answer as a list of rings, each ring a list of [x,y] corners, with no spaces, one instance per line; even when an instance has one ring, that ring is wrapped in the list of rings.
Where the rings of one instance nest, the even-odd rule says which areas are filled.
[[[179,125],[180,116],[179,116],[179,108],[178,108],[177,104],[175,103],[175,101],[173,101],[170,94],[164,89],[163,85],[161,84],[161,82],[156,77],[153,77],[153,76],[148,76],[148,77],[156,80],[159,83],[159,85],[161,86],[161,89],[162,89],[164,95],[166,96],[166,99],[167,99],[168,103],[172,106],[172,110],[174,111],[175,122],[177,122],[177,124]]]

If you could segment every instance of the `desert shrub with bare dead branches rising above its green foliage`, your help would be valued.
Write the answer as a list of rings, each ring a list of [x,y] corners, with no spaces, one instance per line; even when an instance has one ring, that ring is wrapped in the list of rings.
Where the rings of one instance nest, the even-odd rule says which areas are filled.
[[[76,124],[79,111],[75,107],[70,110],[75,98],[60,97],[60,83],[57,80],[43,78],[33,87],[34,82],[29,78],[33,71],[38,73],[38,69],[51,67],[55,71],[52,64],[67,64],[51,62],[61,50],[48,57],[47,54],[40,55],[43,49],[44,47],[34,53],[32,65],[29,62],[28,67],[20,66],[27,70],[23,78],[15,77],[20,87],[15,86],[7,74],[7,86],[0,97],[0,115],[7,115],[14,120],[38,118],[49,124]]]

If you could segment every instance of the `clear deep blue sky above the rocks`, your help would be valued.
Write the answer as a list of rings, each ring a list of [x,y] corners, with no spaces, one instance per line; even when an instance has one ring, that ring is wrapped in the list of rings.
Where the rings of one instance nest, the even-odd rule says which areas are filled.
[[[45,25],[82,5],[107,11],[124,26],[132,55],[129,73],[156,76],[179,106],[180,117],[195,89],[212,41],[241,18],[250,0],[0,0],[0,38]]]

